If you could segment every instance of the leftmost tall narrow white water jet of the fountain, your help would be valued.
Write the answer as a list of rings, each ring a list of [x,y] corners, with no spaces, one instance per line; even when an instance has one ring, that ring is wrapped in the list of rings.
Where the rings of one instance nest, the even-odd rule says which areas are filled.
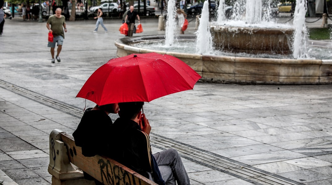
[[[167,21],[165,29],[166,46],[171,46],[174,43],[174,31],[176,30],[175,13],[175,0],[169,0],[167,4]]]

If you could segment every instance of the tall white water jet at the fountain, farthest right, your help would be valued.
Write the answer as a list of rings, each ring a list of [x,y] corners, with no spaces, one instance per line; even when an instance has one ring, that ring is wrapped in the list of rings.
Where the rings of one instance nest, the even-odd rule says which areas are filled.
[[[296,0],[293,27],[295,29],[293,34],[293,58],[304,59],[308,58],[306,39],[307,28],[305,26],[305,14],[307,12],[307,1]]]

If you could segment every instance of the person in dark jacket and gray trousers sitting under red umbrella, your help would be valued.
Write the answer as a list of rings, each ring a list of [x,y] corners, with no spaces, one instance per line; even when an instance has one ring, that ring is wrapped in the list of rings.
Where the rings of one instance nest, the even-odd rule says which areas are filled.
[[[124,164],[137,173],[153,180],[159,185],[190,185],[180,155],[175,149],[167,149],[156,154],[151,153],[149,120],[141,114],[144,102],[119,103],[119,118],[111,127],[114,139],[111,158]]]

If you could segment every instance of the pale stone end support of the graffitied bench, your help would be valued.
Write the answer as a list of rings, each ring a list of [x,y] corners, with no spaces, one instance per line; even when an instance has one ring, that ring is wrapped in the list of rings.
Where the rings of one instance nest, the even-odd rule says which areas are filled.
[[[69,162],[67,147],[60,141],[61,133],[54,129],[49,135],[48,173],[52,175],[52,185],[94,185],[94,181],[84,179],[83,171]]]

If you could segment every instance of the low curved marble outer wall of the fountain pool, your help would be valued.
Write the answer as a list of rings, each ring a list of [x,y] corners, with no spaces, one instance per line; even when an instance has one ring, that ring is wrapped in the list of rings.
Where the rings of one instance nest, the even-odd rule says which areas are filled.
[[[240,84],[331,84],[332,60],[267,59],[213,56],[166,52],[133,47],[137,42],[160,41],[164,35],[124,37],[116,40],[117,56],[133,53],[172,55],[188,64],[203,81]],[[178,39],[196,39],[196,35],[179,35]]]

